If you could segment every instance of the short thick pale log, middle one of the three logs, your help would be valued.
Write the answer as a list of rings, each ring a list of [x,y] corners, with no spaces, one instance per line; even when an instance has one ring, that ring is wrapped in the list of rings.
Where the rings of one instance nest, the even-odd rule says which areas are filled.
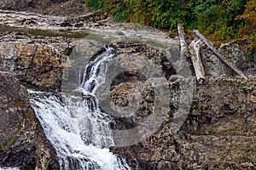
[[[196,80],[199,84],[202,84],[206,78],[205,70],[201,63],[201,43],[201,39],[196,38],[189,44],[190,58],[194,66]]]

